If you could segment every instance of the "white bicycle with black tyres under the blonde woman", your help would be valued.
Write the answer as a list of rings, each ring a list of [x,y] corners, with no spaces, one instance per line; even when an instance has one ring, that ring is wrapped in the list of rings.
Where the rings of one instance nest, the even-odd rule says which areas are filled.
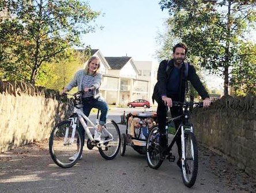
[[[104,157],[104,159],[114,159],[118,154],[121,144],[118,125],[115,121],[108,119],[101,131],[101,138],[103,141],[94,141],[85,120],[92,125],[94,133],[94,130],[97,129],[97,124],[99,123],[99,111],[96,124],[94,125],[82,111],[82,91],[78,91],[71,96],[74,98],[73,113],[69,116],[68,120],[58,123],[51,132],[49,150],[52,160],[62,168],[70,168],[77,163],[82,155],[84,146],[84,139],[82,139],[81,134],[82,128],[89,137],[87,141],[88,149],[92,149],[96,146],[99,148],[100,155]],[[79,124],[79,122],[81,124]],[[79,128],[79,125],[82,125],[82,128]],[[74,160],[70,160],[70,157],[73,155],[76,155]]]

